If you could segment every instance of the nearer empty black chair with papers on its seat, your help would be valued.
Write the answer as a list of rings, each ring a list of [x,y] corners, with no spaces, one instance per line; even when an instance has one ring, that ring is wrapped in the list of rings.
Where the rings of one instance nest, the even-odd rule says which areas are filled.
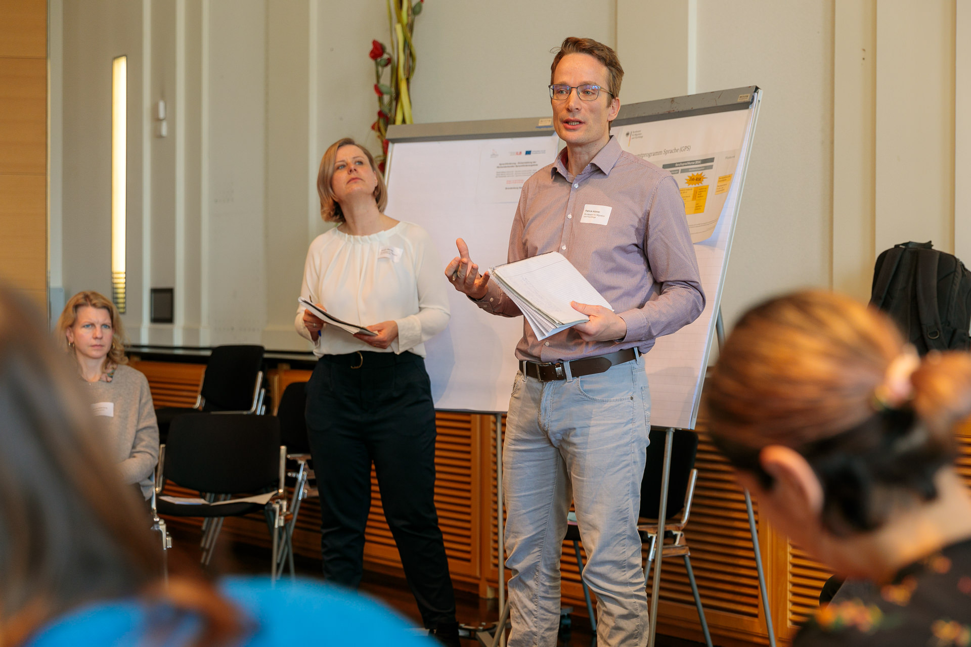
[[[272,416],[179,416],[172,421],[168,442],[159,448],[155,475],[157,514],[213,520],[204,529],[202,541],[201,561],[208,565],[222,520],[262,511],[272,536],[271,575],[276,579],[286,513],[285,459],[280,424]],[[205,501],[162,495],[166,480],[205,493]],[[232,495],[249,496],[231,498]]]

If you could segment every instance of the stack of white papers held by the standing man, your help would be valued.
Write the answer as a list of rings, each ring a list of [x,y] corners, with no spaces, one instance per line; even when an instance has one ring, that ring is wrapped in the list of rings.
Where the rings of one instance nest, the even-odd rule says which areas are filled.
[[[590,320],[573,309],[571,301],[614,309],[558,251],[500,265],[489,272],[519,306],[540,340]]]

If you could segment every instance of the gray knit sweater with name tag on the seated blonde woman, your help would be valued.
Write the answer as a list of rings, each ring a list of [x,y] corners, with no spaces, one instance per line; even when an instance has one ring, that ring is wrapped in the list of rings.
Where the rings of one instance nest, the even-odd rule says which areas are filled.
[[[158,463],[158,423],[151,404],[149,380],[122,364],[112,381],[89,382],[85,391],[91,402],[95,429],[103,435],[115,458],[122,481],[138,483],[145,498],[150,498]]]

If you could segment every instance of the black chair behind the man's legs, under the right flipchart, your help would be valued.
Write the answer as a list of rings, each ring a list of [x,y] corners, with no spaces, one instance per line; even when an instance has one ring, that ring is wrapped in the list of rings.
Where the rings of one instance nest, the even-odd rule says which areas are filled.
[[[660,436],[659,434],[654,437]],[[657,550],[657,518],[660,514],[660,499],[662,476],[664,473],[664,436],[661,441],[652,442],[647,449],[647,460],[644,466],[644,478],[641,480],[641,510],[643,523],[637,526],[641,541],[648,544],[648,559],[645,571],[650,573],[654,555]],[[691,512],[691,500],[694,497],[694,485],[698,478],[698,470],[694,469],[694,459],[698,452],[698,437],[694,432],[679,429],[672,436],[671,469],[668,476],[667,505],[664,514],[664,538],[661,541],[661,555],[664,558],[681,556],[685,561],[687,579],[694,595],[694,604],[698,609],[698,620],[701,631],[705,636],[705,644],[712,647],[712,637],[705,620],[705,609],[701,605],[698,586],[694,581],[694,571],[691,569],[690,550],[685,538],[685,526]],[[577,518],[571,512],[567,521],[566,536],[573,542],[577,553],[577,565],[580,568],[581,583],[584,587],[586,610],[590,614],[590,627],[596,632],[596,621],[593,618],[593,607],[590,604],[590,593],[583,581],[584,563],[580,554],[580,529]],[[654,622],[654,619],[651,619]]]

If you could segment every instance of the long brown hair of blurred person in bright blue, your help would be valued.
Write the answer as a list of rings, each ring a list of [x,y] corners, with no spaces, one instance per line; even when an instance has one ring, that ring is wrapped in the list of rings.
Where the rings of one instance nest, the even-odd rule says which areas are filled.
[[[85,602],[130,596],[195,617],[200,631],[188,644],[228,644],[240,617],[210,584],[173,576],[161,585],[144,510],[117,480],[76,379],[28,311],[0,288],[0,644],[22,644]]]

